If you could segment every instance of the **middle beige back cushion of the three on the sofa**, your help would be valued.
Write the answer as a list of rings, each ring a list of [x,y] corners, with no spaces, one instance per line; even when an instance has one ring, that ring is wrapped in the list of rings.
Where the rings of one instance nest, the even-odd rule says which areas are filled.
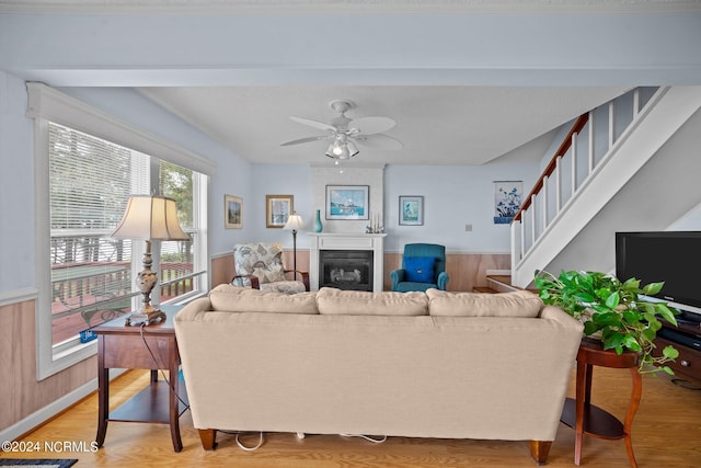
[[[322,315],[347,316],[426,316],[428,298],[424,293],[368,293],[322,287],[317,293]]]

